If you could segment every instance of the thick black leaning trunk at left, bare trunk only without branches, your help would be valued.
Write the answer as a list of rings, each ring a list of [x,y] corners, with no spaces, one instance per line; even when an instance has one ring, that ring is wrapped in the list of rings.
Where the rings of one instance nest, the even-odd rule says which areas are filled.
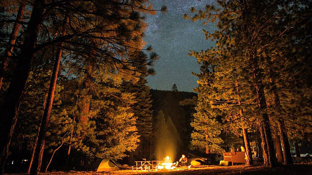
[[[43,20],[42,14],[45,10],[41,2],[41,0],[34,1],[32,15],[24,35],[24,44],[21,47],[16,69],[4,97],[2,108],[0,109],[0,114],[2,115],[0,118],[0,173],[3,172],[8,156],[9,146],[18,119],[21,99],[33,64],[35,44],[37,42],[39,26]]]

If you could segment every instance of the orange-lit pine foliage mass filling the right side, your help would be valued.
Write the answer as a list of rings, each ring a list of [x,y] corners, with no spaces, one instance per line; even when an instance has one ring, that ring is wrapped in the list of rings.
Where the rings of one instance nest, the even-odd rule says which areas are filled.
[[[311,27],[311,18],[306,18],[311,17],[308,12],[311,3],[256,0],[217,3],[207,5],[205,11],[193,8],[194,16],[185,16],[192,20],[217,21],[218,28],[214,33],[203,30],[206,39],[215,41],[215,47],[190,53],[201,64],[201,72],[195,74],[199,78],[196,91],[198,99],[205,99],[199,101],[198,105],[203,107],[196,109],[195,118],[198,115],[199,119],[208,120],[206,116],[215,116],[202,114],[202,110],[210,109],[222,116],[224,128],[239,135],[239,128],[258,127],[258,118],[262,120],[267,114],[275,119],[302,121],[304,116],[311,116],[310,107],[301,107],[311,106],[311,92],[307,88],[311,81],[305,79],[311,76],[311,61],[303,61],[311,57],[307,42],[311,37],[306,32],[299,32],[303,31],[302,20],[310,21],[305,27]],[[304,14],[303,18],[299,12]],[[310,51],[301,52],[297,48],[299,45]],[[276,88],[283,108],[273,103]],[[204,135],[192,136],[199,144]]]

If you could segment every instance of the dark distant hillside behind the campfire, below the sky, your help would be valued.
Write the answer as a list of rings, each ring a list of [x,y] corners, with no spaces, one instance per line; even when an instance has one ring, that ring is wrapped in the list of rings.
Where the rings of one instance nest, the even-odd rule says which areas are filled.
[[[192,99],[197,94],[194,92],[173,92],[154,89],[151,89],[150,93],[153,100],[152,110],[154,119],[160,110],[164,112],[165,117],[170,116],[179,132],[182,141],[181,149],[188,149],[192,133],[190,123],[193,117],[191,114],[194,111],[191,106],[181,106],[179,102],[184,99]]]

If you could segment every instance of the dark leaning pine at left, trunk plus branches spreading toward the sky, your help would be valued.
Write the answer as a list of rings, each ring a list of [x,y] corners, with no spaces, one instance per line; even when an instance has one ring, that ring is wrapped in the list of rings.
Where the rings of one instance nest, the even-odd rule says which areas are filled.
[[[3,130],[1,133],[5,135],[3,137],[5,140],[1,142],[0,147],[1,152],[3,150],[1,166],[4,165],[5,154],[8,151],[8,146],[4,145],[10,144],[12,131],[18,118],[18,106],[33,66],[35,53],[49,46],[59,46],[59,43],[66,41],[67,44],[63,47],[67,51],[65,55],[75,54],[76,57],[70,56],[76,58],[73,62],[81,63],[79,58],[89,57],[90,60],[98,59],[104,63],[111,63],[117,70],[137,71],[136,67],[131,67],[129,64],[150,64],[150,60],[138,63],[135,59],[129,59],[131,57],[129,54],[140,51],[144,47],[142,37],[146,23],[143,22],[142,14],[155,12],[152,6],[147,6],[149,4],[145,2],[147,1],[98,3],[98,1],[68,0],[46,3],[42,0],[34,0],[29,4],[32,5],[31,16],[28,17],[16,69],[1,110],[3,113],[1,124],[4,126],[1,127]],[[59,28],[58,21],[64,19],[65,14],[69,17],[70,27],[67,34],[62,36],[62,31],[56,32],[53,29]],[[45,37],[39,38],[39,36]],[[93,63],[97,65],[97,62]]]

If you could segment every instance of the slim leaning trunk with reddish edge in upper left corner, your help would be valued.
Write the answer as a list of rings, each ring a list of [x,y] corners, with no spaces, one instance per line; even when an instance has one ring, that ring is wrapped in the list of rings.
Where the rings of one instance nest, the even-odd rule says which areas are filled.
[[[8,46],[6,47],[6,50],[4,52],[4,55],[3,55],[3,58],[1,58],[0,60],[0,63],[1,63],[1,68],[0,68],[0,90],[1,90],[1,87],[2,87],[2,81],[3,81],[3,77],[4,77],[4,73],[6,72],[7,70],[7,67],[8,67],[8,62],[9,62],[9,59],[12,55],[12,52],[13,52],[13,49],[14,49],[14,45],[15,45],[15,42],[16,42],[16,39],[18,37],[18,34],[19,34],[19,29],[20,29],[20,22],[24,16],[24,11],[25,11],[25,7],[26,7],[26,2],[25,1],[21,1],[20,2],[20,8],[19,8],[19,11],[18,11],[18,15],[15,19],[15,23],[14,23],[14,26],[12,28],[12,33],[10,35],[10,38],[9,38],[9,43],[8,43]]]

